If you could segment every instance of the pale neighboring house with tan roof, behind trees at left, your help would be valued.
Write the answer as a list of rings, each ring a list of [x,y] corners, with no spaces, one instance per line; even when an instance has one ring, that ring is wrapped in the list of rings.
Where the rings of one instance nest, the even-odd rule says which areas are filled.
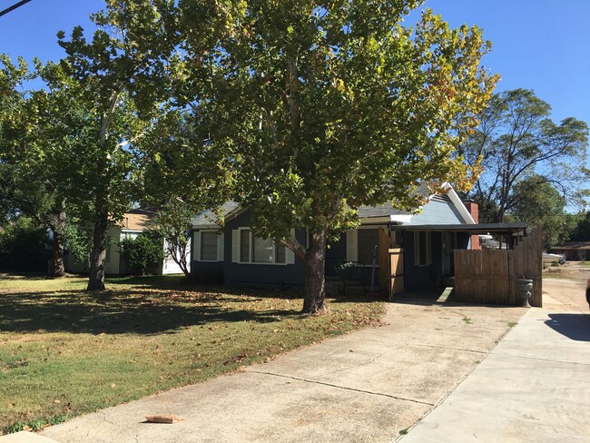
[[[123,239],[134,239],[140,233],[149,228],[152,220],[152,212],[144,211],[142,209],[134,209],[123,214],[123,220],[115,223],[109,228],[106,234],[106,258],[104,260],[104,272],[110,275],[124,275],[130,273],[132,270],[129,262],[124,259],[119,251],[118,242]],[[162,245],[165,248],[165,242]],[[66,271],[69,272],[87,272],[88,263],[77,261],[74,257],[68,254],[66,260]],[[190,269],[190,263],[189,263]],[[182,273],[181,268],[170,256],[166,256],[157,267],[150,270],[156,274],[179,274]]]

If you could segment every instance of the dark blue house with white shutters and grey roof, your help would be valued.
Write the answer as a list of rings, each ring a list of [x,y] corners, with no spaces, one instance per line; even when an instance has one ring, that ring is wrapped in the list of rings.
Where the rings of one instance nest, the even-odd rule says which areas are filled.
[[[228,202],[221,213],[225,220],[222,230],[212,212],[192,221],[193,273],[231,286],[303,286],[302,262],[280,242],[255,237],[249,226],[249,210]],[[446,194],[431,196],[417,214],[388,204],[363,206],[358,214],[359,228],[344,232],[339,241],[329,244],[327,280],[336,280],[341,265],[349,262],[360,283],[372,285],[371,276],[379,275],[379,229],[388,239],[382,249],[403,248],[407,290],[437,286],[444,277],[452,276],[454,249],[479,249],[477,235],[472,238],[468,231],[457,229],[477,223],[477,205],[461,202],[450,186]],[[306,231],[298,230],[295,235],[302,244],[307,243]]]

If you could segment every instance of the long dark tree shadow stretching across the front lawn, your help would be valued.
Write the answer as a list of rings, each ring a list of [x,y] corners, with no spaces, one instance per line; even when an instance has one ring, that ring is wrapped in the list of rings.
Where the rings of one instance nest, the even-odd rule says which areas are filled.
[[[142,290],[5,294],[0,297],[0,331],[157,334],[215,321],[262,323],[299,315],[296,309],[249,310],[228,301],[238,300],[214,295],[182,300],[182,293]]]

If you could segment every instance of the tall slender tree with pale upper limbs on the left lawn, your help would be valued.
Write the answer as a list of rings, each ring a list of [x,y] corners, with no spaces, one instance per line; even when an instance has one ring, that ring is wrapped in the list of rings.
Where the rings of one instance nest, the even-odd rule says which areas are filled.
[[[79,26],[69,40],[58,35],[67,54],[60,64],[63,81],[73,85],[74,100],[91,117],[87,127],[93,138],[84,150],[94,226],[88,290],[104,288],[106,231],[130,202],[139,200],[131,187],[136,172],[132,151],[161,110],[153,100],[152,77],[163,81],[165,73],[150,55],[167,40],[161,31],[165,17],[152,3],[162,10],[169,2],[109,0],[104,11],[92,15],[99,29],[91,40]],[[138,33],[130,35],[132,28]]]

